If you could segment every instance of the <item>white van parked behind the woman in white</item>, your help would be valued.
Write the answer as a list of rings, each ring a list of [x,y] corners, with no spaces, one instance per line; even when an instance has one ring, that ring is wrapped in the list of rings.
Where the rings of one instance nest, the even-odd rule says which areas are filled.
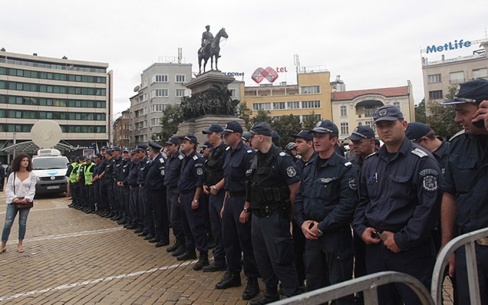
[[[32,158],[33,172],[37,176],[36,194],[66,192],[68,185],[68,158],[57,149],[39,149]]]

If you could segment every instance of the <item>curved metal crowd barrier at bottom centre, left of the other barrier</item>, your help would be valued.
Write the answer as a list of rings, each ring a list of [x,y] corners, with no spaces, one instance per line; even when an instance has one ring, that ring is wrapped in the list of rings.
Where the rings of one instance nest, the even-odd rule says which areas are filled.
[[[409,286],[420,299],[421,304],[434,305],[429,291],[414,277],[401,272],[384,271],[360,277],[339,284],[331,285],[311,292],[282,299],[273,304],[321,304],[362,291],[364,305],[378,304],[377,287],[391,283],[402,283]]]

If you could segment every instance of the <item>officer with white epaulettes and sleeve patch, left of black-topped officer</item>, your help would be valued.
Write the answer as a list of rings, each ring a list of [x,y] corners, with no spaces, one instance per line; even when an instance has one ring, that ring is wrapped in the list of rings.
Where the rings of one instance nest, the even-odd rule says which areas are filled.
[[[195,247],[200,252],[198,262],[193,270],[201,270],[208,266],[208,242],[205,230],[205,211],[200,206],[203,194],[203,157],[196,152],[198,145],[194,135],[181,138],[181,152],[185,158],[181,164],[181,175],[178,180],[179,203],[182,212],[181,219],[186,236],[186,252],[177,257],[178,260],[195,259]]]

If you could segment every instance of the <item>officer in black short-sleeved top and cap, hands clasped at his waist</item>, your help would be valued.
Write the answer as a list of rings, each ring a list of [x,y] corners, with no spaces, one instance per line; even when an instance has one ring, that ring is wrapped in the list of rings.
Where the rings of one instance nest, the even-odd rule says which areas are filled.
[[[240,125],[239,125],[240,126]],[[227,126],[226,126],[227,129]],[[209,156],[205,163],[205,175],[203,192],[208,196],[208,215],[212,237],[215,241],[214,262],[203,267],[204,272],[227,270],[224,245],[222,241],[222,223],[220,211],[224,203],[224,159],[226,155],[226,143],[222,140],[222,126],[212,124],[202,133],[208,139]],[[207,142],[205,142],[207,143]]]

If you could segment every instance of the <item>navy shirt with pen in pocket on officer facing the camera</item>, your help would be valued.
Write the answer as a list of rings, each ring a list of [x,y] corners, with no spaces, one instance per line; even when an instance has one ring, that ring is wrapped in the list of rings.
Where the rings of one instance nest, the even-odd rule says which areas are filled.
[[[401,250],[419,245],[438,224],[441,182],[441,168],[424,148],[405,138],[388,160],[383,145],[362,165],[354,230],[359,236],[367,227],[391,231]]]

